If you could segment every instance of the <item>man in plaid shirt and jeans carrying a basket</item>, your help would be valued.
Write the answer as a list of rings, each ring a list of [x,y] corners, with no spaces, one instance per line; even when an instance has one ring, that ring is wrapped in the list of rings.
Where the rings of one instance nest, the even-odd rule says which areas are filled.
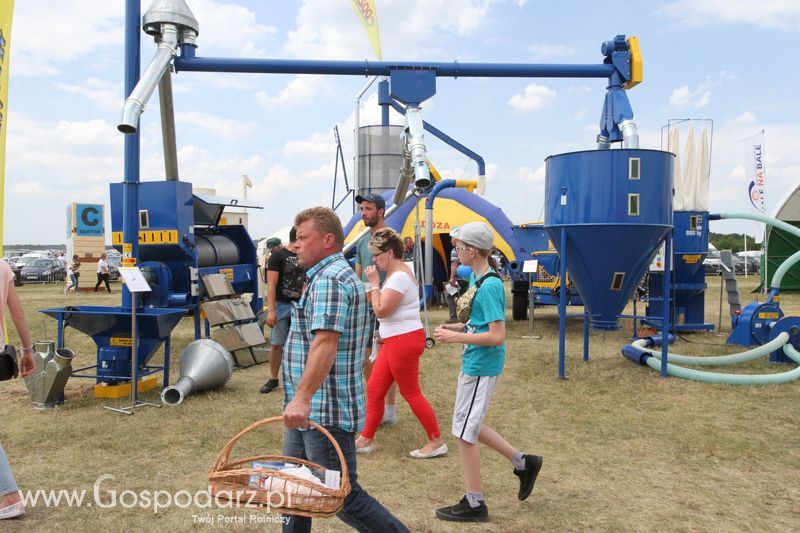
[[[295,251],[308,282],[293,303],[283,355],[283,453],[341,471],[333,444],[312,420],[327,429],[342,449],[350,474],[350,494],[338,513],[359,531],[408,531],[358,484],[355,437],[364,425],[362,371],[368,343],[368,303],[364,287],[342,255],[344,232],[332,210],[313,207],[295,217]],[[311,531],[311,519],[292,516],[284,531]]]

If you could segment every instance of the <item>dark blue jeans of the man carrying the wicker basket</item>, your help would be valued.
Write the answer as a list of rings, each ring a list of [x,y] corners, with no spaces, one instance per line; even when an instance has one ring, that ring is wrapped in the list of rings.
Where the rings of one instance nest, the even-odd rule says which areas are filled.
[[[336,516],[358,531],[408,531],[402,522],[358,484],[355,433],[348,433],[335,427],[326,426],[325,429],[330,431],[342,448],[350,473],[350,494],[344,500],[344,508]],[[287,429],[283,436],[283,454],[307,459],[329,470],[342,470],[333,444],[316,430]],[[311,531],[311,519],[291,516],[289,522],[284,524],[283,531],[287,533]]]

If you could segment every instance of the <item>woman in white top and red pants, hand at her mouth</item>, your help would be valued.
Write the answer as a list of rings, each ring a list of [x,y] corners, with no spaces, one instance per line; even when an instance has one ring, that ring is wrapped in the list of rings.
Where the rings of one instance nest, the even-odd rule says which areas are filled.
[[[414,273],[403,262],[403,240],[391,228],[376,231],[369,242],[375,266],[364,272],[371,284],[369,299],[383,344],[367,383],[367,421],[356,440],[356,451],[375,449],[375,432],[383,417],[383,398],[395,381],[417,417],[428,442],[411,457],[430,459],[447,453],[436,413],[419,388],[419,358],[425,350],[425,330],[419,318],[419,288]],[[383,287],[378,270],[386,272]]]

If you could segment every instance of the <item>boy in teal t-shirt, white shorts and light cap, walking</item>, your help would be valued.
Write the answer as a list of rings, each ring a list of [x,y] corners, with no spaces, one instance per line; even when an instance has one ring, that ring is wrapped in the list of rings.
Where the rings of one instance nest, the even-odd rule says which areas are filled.
[[[461,372],[458,375],[452,432],[464,467],[467,493],[455,505],[436,510],[441,520],[484,522],[489,511],[481,488],[481,442],[505,456],[519,478],[520,500],[533,491],[542,458],[526,455],[508,443],[483,420],[506,358],[506,296],[503,282],[489,263],[494,248],[494,232],[484,222],[470,222],[450,233],[461,263],[472,268],[470,289],[459,300],[460,323],[442,324],[434,331],[439,342],[462,343]],[[467,314],[466,305],[471,301]],[[465,316],[466,315],[466,316]]]

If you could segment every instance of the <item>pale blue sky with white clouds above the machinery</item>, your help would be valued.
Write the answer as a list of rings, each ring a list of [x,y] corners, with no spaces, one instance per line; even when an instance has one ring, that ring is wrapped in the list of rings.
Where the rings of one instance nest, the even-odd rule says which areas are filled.
[[[143,2],[143,12],[149,6]],[[346,0],[188,0],[198,56],[373,59]],[[624,7],[623,7],[624,6]],[[617,34],[639,37],[645,81],[629,91],[642,148],[672,118],[714,121],[712,211],[747,209],[741,140],[766,131],[767,210],[800,179],[800,3],[722,0],[543,2],[378,0],[384,60],[596,64]],[[17,0],[11,38],[5,243],[59,243],[69,202],[108,204],[122,180],[124,2]],[[41,17],[42,14],[46,16]],[[143,62],[153,55],[142,38]],[[330,205],[339,126],[352,174],[358,76],[179,73],[173,78],[181,179],[248,197],[254,237]],[[590,149],[604,80],[439,78],[424,118],[486,160],[487,199],[515,223],[540,218],[544,160]],[[375,90],[361,124],[379,122]],[[400,123],[394,115],[393,123]],[[445,177],[477,166],[426,135]],[[142,180],[163,179],[157,95],[142,119]],[[341,191],[341,183],[339,184]],[[340,210],[349,214],[349,207]],[[345,216],[345,218],[348,218]],[[717,223],[712,231],[754,231]],[[110,232],[109,232],[110,239]]]

